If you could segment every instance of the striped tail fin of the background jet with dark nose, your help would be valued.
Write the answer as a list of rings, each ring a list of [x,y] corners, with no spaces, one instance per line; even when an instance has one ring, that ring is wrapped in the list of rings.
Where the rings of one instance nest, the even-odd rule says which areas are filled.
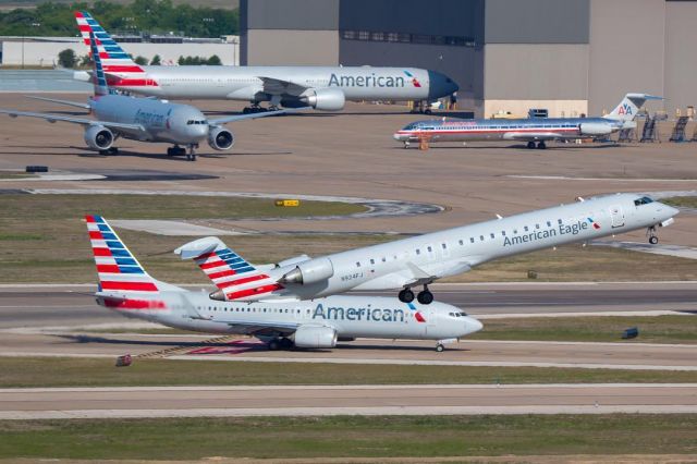
[[[87,47],[90,47],[89,33],[95,35],[105,72],[145,74],[143,68],[131,59],[131,56],[111,38],[109,33],[88,12],[76,11],[75,21],[77,21],[77,27]],[[90,53],[93,53],[91,48]]]

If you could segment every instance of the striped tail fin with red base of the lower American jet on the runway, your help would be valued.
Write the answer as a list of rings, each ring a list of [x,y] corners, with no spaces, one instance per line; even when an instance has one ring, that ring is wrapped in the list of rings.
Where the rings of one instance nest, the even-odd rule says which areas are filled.
[[[97,297],[114,309],[164,309],[162,291],[181,289],[157,281],[143,268],[105,218],[85,216],[97,265]]]

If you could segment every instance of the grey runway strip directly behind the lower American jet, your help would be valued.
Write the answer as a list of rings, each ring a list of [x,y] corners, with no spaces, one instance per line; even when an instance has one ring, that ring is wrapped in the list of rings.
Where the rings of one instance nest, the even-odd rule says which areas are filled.
[[[192,288],[192,289],[198,289]],[[475,317],[697,312],[695,282],[436,284],[436,297]],[[1,285],[0,330],[123,323],[97,306],[94,285]],[[389,292],[370,293],[393,296]]]

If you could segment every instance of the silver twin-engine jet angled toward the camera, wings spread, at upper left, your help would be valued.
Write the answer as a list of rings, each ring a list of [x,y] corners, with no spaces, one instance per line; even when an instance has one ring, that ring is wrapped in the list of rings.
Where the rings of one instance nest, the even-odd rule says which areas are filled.
[[[12,118],[40,118],[48,122],[70,122],[85,126],[85,144],[99,150],[102,155],[115,155],[119,149],[113,143],[119,138],[131,138],[140,142],[164,142],[174,144],[167,149],[168,156],[186,155],[189,161],[196,160],[196,148],[201,141],[216,150],[228,150],[234,145],[232,132],[223,124],[245,119],[278,115],[295,110],[282,110],[273,113],[237,114],[208,120],[195,107],[175,105],[152,98],[134,98],[115,95],[109,91],[100,56],[93,33],[89,33],[94,57],[95,95],[87,103],[58,100],[44,97],[32,97],[60,105],[84,108],[97,117],[96,120],[73,118],[60,114],[35,113],[27,111],[2,110],[0,113]],[[297,110],[301,110],[299,108]],[[180,145],[188,147],[188,152]]]

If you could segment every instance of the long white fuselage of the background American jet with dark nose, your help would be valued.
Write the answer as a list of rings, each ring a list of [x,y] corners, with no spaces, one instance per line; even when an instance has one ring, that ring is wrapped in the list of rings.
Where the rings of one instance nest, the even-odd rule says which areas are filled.
[[[169,99],[255,102],[269,101],[271,94],[279,90],[265,80],[289,83],[284,91],[288,98],[296,98],[306,89],[334,88],[353,101],[435,100],[457,90],[450,77],[414,68],[143,66],[143,70],[145,75],[110,70],[111,76],[120,78],[109,80],[109,85]]]

